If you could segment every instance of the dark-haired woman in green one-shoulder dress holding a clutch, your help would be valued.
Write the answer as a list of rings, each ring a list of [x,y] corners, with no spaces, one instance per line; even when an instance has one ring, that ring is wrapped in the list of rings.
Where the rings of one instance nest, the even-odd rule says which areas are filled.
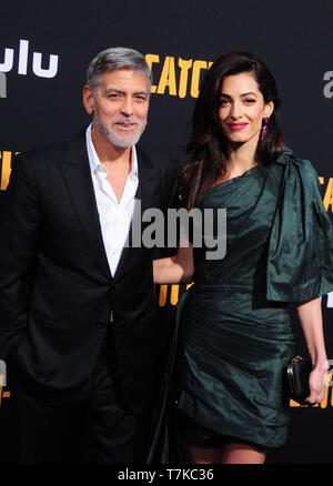
[[[154,262],[157,283],[194,282],[179,303],[172,375],[192,463],[263,463],[285,443],[290,303],[312,361],[307,402],[325,394],[320,296],[333,290],[332,225],[313,166],[284,146],[279,104],[256,57],[213,63],[193,113],[182,200],[188,210],[226,209],[226,254],[208,259],[202,239]]]

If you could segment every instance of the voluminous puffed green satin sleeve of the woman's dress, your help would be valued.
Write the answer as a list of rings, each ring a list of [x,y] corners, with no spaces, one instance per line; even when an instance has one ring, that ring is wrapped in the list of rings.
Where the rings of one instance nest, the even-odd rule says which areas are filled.
[[[333,291],[333,226],[309,161],[285,160],[269,242],[269,301],[310,301]]]

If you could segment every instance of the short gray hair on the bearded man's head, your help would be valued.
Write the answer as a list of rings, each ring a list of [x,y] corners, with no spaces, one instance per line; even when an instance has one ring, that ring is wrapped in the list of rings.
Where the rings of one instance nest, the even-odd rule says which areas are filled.
[[[115,69],[134,69],[147,77],[149,91],[152,85],[152,72],[145,62],[144,55],[134,49],[110,48],[100,52],[89,64],[87,84],[94,90],[102,74]]]

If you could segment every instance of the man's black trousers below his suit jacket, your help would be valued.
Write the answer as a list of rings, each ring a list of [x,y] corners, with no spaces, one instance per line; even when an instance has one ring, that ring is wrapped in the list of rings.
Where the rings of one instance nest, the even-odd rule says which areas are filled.
[[[123,403],[117,366],[107,348],[99,357],[90,391],[79,398],[50,405],[16,389],[11,399],[11,462],[144,462],[150,422],[134,416]]]

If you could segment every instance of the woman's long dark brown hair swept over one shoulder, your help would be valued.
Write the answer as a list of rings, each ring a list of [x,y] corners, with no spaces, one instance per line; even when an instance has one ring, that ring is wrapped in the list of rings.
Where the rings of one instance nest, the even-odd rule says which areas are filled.
[[[283,134],[278,121],[280,99],[275,80],[260,59],[250,52],[231,52],[221,55],[206,72],[192,119],[192,135],[185,145],[190,162],[182,173],[182,196],[188,209],[193,207],[203,194],[226,173],[230,155],[228,139],[219,121],[219,105],[223,79],[226,75],[253,73],[264,102],[274,102],[268,133],[259,142],[255,161],[269,164],[275,161],[284,148]]]

